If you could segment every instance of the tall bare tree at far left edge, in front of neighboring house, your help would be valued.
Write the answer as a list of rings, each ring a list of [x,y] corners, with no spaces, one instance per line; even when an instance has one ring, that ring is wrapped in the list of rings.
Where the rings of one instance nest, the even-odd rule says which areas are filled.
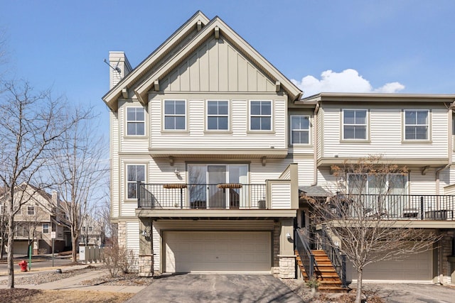
[[[32,196],[17,194],[40,177],[50,159],[51,143],[65,133],[71,121],[62,116],[61,98],[34,93],[27,82],[6,82],[0,94],[0,186],[5,188],[8,235],[8,287],[14,288],[14,218]]]

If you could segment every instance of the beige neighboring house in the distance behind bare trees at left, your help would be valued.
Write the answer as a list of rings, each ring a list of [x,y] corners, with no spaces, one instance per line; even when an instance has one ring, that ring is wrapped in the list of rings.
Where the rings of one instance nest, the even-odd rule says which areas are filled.
[[[21,184],[16,190],[16,199],[27,201],[14,217],[14,253],[28,254],[28,245],[32,244],[32,253],[52,253],[52,232],[55,231],[54,251],[65,248],[64,226],[60,224],[58,211],[60,199],[57,192],[48,194],[30,184]],[[4,205],[0,206],[3,214]]]

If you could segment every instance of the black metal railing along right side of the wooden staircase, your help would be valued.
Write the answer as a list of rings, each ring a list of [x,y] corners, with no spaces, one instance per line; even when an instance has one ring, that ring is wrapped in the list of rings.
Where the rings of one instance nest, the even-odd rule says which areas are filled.
[[[338,277],[341,280],[341,286],[347,287],[346,284],[346,255],[341,253],[340,248],[336,248],[335,244],[332,242],[331,237],[328,235],[326,230],[326,225],[323,224],[321,230],[319,231],[319,240],[318,246],[328,256],[328,259],[331,261],[333,268],[335,268]]]

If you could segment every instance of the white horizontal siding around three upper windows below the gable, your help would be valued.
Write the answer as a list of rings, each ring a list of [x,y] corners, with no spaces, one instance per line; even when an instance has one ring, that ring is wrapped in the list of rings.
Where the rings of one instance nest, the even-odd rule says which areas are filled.
[[[191,97],[191,96],[190,96]],[[287,101],[285,99],[270,99],[271,96],[250,96],[250,99],[230,100],[232,107],[230,121],[232,131],[221,133],[205,133],[205,100],[225,100],[225,96],[210,96],[205,99],[188,99],[188,114],[186,118],[188,130],[186,132],[162,132],[161,121],[163,119],[162,106],[164,97],[152,99],[151,106],[151,148],[287,148]],[[176,98],[173,94],[169,99]],[[248,106],[250,100],[272,100],[274,104],[274,130],[270,131],[248,131]]]

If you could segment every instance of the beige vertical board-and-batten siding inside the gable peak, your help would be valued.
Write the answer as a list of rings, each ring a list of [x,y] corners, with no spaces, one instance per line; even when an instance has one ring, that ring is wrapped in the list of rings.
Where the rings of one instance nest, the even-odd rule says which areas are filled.
[[[164,92],[274,92],[275,84],[235,46],[210,38],[160,80]]]

